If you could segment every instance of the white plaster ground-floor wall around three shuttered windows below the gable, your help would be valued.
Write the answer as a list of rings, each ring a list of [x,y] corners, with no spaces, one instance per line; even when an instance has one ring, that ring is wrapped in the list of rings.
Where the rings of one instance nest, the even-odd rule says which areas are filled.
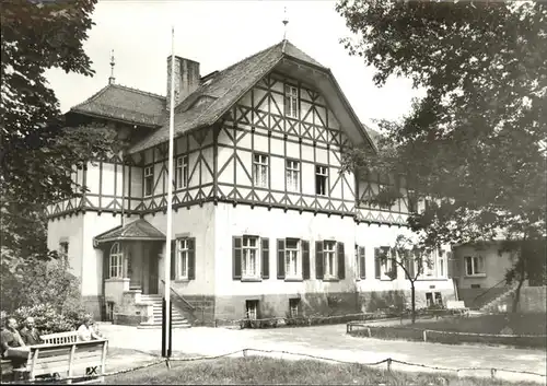
[[[219,203],[214,213],[217,233],[216,244],[216,294],[219,296],[244,294],[281,294],[305,292],[354,291],[353,219],[327,218],[325,214],[296,211],[283,212],[249,206],[233,207]],[[232,237],[244,234],[269,238],[269,279],[261,282],[242,282],[232,278]],[[311,279],[303,282],[286,282],[277,279],[277,238],[298,237],[310,242]],[[324,282],[315,279],[315,242],[336,239],[345,244],[346,279],[339,282]]]

